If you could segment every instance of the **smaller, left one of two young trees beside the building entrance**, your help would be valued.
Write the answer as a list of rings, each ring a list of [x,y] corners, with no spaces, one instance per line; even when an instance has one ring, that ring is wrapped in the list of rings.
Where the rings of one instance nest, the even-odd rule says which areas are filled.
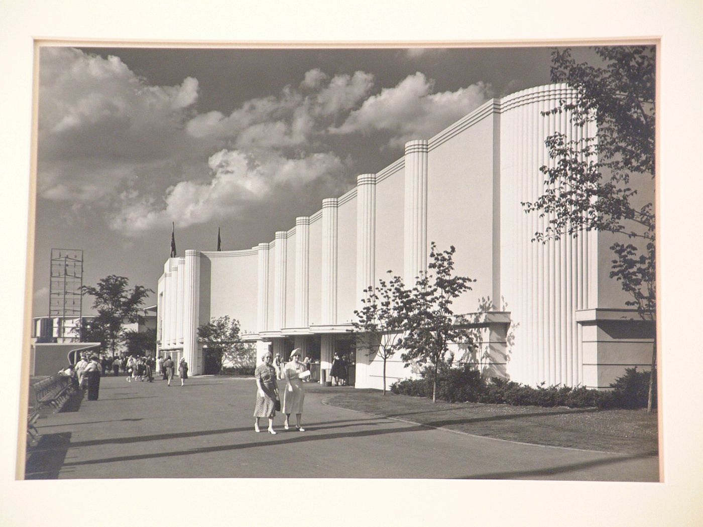
[[[392,274],[392,271],[388,271]],[[383,395],[386,394],[386,364],[400,349],[404,305],[410,292],[399,276],[378,280],[376,287],[363,290],[362,307],[355,310],[354,336],[357,348],[368,349],[369,356],[383,360]]]

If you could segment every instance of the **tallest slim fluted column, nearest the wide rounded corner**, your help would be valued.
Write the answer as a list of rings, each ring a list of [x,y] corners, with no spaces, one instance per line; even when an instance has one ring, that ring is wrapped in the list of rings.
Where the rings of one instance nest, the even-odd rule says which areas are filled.
[[[405,144],[404,280],[427,271],[427,140]]]

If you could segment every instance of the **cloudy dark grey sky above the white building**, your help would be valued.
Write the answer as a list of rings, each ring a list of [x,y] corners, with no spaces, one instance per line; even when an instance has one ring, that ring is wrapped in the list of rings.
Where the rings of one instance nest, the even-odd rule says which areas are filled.
[[[406,141],[548,84],[550,53],[41,48],[33,315],[52,248],[83,250],[85,285],[155,290],[172,222],[179,256],[216,249],[218,228],[224,250],[271,241]]]

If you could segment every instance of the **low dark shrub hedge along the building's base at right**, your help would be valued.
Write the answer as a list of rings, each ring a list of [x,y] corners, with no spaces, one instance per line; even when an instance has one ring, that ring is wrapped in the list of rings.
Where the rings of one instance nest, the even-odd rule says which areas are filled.
[[[656,375],[656,370],[654,372]],[[432,398],[434,372],[429,368],[420,379],[404,379],[391,385],[393,393]],[[470,365],[442,365],[437,373],[437,398],[450,403],[492,403],[520,406],[567,406],[569,408],[646,408],[650,372],[627,368],[610,390],[569,386],[527,386],[494,378],[489,382]],[[656,390],[653,405],[656,406]]]

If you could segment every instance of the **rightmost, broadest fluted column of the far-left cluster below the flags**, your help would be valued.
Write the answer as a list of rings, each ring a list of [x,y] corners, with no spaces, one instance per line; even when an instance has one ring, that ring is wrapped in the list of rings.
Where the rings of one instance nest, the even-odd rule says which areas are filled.
[[[183,263],[183,357],[191,373],[202,373],[198,360],[198,321],[200,315],[200,253],[186,250]]]

